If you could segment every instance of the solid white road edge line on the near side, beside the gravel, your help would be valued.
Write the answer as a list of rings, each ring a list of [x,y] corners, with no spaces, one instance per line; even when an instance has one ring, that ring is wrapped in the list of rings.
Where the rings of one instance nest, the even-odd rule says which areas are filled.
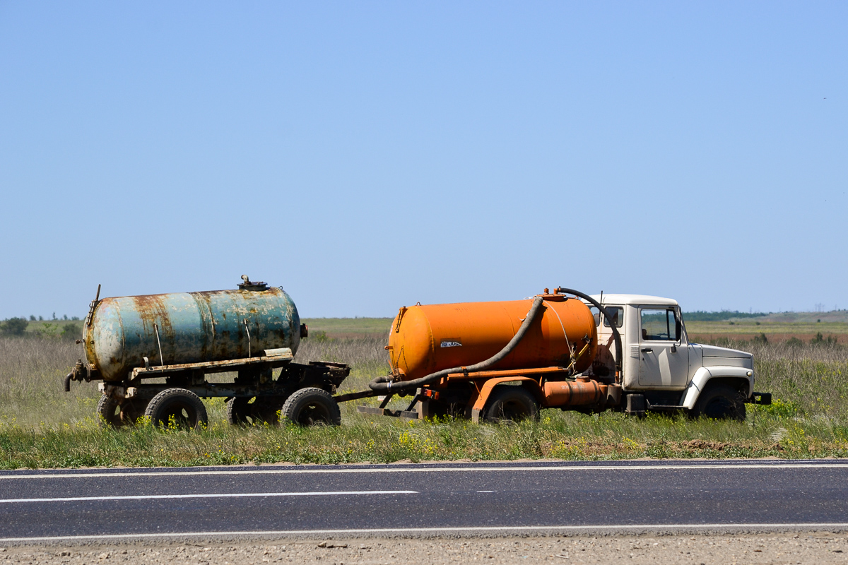
[[[184,532],[166,534],[46,535],[29,538],[0,538],[0,543],[64,540],[133,540],[147,538],[215,537],[220,535],[371,535],[371,534],[455,534],[474,532],[597,531],[597,530],[704,530],[704,529],[846,529],[848,522],[834,523],[639,523],[584,526],[460,526],[454,528],[371,528],[371,529],[278,529],[225,532]]]

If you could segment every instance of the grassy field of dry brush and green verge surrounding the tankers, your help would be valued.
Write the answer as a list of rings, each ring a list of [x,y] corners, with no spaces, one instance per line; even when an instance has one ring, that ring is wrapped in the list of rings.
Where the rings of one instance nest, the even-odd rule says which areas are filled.
[[[386,319],[309,320],[298,360],[349,363],[343,391],[365,388],[388,371]],[[358,325],[359,324],[359,325]],[[370,325],[369,325],[370,324]],[[359,331],[363,327],[374,331]],[[380,330],[382,327],[383,330]],[[797,332],[793,332],[797,333]],[[344,335],[364,335],[355,339]],[[848,457],[848,347],[732,343],[753,352],[757,390],[772,407],[749,407],[744,424],[677,416],[631,418],[544,410],[538,423],[475,425],[465,420],[406,423],[363,416],[343,404],[339,428],[236,428],[221,399],[207,401],[209,429],[200,433],[102,429],[96,385],[62,391],[80,346],[59,338],[0,338],[0,468],[208,465],[221,463],[354,463],[399,460],[635,457]],[[371,403],[376,401],[371,399]],[[401,407],[404,399],[393,402]]]

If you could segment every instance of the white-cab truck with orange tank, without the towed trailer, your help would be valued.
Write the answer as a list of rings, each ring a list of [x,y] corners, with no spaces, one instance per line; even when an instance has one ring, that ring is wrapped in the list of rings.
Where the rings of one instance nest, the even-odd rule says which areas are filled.
[[[360,413],[451,414],[474,422],[538,418],[541,408],[644,415],[675,411],[745,419],[753,357],[692,343],[677,301],[589,296],[557,288],[525,300],[400,308],[388,337],[391,374],[354,397],[382,396]],[[411,396],[405,410],[387,407]]]

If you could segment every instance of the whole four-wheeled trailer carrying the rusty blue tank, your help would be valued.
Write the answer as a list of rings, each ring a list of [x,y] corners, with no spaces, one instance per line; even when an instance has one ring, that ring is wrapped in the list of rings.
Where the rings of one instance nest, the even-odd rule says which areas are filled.
[[[242,275],[237,290],[100,298],[89,307],[85,361],[65,377],[102,380],[97,412],[105,424],[202,427],[201,398],[226,398],[231,424],[341,423],[332,398],[349,374],[341,363],[294,363],[307,328],[282,288]],[[279,369],[278,371],[276,369]],[[209,374],[230,374],[210,382]]]

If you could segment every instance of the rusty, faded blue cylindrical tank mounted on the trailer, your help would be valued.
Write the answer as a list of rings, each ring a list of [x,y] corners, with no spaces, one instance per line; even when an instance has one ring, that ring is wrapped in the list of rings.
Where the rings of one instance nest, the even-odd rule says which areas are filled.
[[[103,380],[132,368],[207,363],[261,355],[300,343],[300,317],[282,288],[250,282],[232,291],[119,296],[92,302],[83,342]],[[161,351],[161,354],[160,354]]]

